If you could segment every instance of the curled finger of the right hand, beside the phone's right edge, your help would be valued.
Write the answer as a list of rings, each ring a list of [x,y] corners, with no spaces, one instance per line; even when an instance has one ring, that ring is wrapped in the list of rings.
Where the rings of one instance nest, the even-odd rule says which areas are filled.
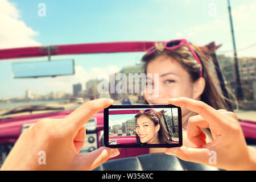
[[[209,123],[205,121],[200,115],[192,116],[188,119],[187,135],[188,140],[196,145],[196,147],[203,147],[206,144],[206,135],[201,129],[209,127]]]

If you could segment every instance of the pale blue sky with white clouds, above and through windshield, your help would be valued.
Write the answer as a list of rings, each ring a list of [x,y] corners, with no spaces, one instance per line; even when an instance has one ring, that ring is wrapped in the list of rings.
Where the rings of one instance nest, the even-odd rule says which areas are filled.
[[[42,6],[45,5],[45,16]],[[256,2],[230,0],[238,57],[256,56]],[[122,41],[167,41],[185,38],[199,46],[215,41],[217,53],[233,56],[228,2],[224,0],[0,0],[0,49],[59,44]],[[143,55],[112,53],[52,56],[75,59],[76,75],[14,79],[12,63],[36,59],[0,60],[0,99],[65,90],[101,73],[135,65]]]

